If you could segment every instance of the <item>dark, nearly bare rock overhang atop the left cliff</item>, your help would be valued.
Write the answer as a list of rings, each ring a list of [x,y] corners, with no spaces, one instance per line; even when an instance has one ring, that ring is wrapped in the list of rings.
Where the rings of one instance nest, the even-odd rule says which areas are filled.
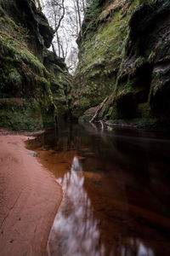
[[[49,48],[54,38],[45,15],[36,8],[35,1],[32,0],[2,0],[2,4],[14,23],[21,24],[27,30],[29,48],[42,60],[43,46]]]

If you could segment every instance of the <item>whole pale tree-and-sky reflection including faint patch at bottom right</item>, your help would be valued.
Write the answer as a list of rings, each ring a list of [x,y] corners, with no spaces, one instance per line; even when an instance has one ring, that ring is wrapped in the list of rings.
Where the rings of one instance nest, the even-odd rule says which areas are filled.
[[[64,189],[64,201],[54,220],[49,240],[48,255],[95,255],[95,256],[154,256],[152,249],[146,247],[138,238],[124,238],[113,243],[108,251],[102,241],[94,208],[84,189],[82,165],[75,156],[71,172],[67,172],[58,182]],[[110,227],[108,227],[109,229]]]

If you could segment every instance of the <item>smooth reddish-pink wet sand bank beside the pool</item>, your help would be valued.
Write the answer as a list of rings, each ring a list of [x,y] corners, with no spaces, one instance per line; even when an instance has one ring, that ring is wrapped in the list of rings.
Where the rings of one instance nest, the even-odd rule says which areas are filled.
[[[0,135],[0,255],[47,255],[62,189],[25,148],[28,137]]]

